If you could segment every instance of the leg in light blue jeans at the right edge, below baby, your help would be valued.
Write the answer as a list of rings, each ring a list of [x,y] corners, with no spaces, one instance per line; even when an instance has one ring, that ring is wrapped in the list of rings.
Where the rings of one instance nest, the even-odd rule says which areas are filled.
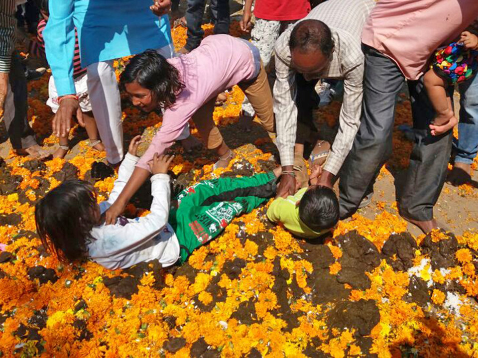
[[[460,123],[458,139],[453,146],[456,153],[453,170],[447,180],[462,185],[471,180],[471,165],[478,153],[478,76],[461,83]]]

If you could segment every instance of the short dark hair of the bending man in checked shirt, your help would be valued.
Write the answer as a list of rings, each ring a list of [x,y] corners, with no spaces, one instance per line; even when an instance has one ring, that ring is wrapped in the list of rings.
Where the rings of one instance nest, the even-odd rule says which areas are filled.
[[[334,40],[330,27],[320,20],[307,19],[299,22],[291,31],[289,48],[302,51],[320,50],[330,56],[334,50]]]

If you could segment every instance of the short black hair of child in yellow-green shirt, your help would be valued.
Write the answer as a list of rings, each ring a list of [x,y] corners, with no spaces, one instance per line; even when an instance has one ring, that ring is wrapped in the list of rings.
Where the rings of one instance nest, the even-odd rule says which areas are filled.
[[[321,185],[307,189],[299,203],[299,218],[315,232],[333,228],[339,222],[339,200],[334,191]]]

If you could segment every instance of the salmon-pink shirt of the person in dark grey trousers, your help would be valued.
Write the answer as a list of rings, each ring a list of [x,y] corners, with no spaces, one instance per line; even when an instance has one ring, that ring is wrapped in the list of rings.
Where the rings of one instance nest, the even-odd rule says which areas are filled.
[[[362,31],[362,42],[417,80],[437,47],[448,44],[478,16],[478,0],[380,0]]]

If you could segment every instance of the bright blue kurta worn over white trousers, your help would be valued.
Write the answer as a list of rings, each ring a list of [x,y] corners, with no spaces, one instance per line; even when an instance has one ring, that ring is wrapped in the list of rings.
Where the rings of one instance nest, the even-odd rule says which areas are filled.
[[[43,36],[58,95],[74,94],[73,53],[78,30],[81,64],[135,55],[172,42],[169,18],[152,0],[50,0]]]

